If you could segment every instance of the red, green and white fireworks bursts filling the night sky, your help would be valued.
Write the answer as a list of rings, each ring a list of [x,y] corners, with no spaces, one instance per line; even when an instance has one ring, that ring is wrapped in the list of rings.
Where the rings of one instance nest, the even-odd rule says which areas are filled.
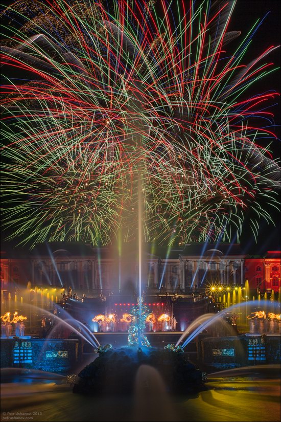
[[[277,94],[254,83],[274,71],[274,47],[248,64],[260,23],[228,31],[234,7],[57,0],[2,12],[11,237],[129,241],[138,190],[145,241],[228,241],[249,212],[254,233],[271,219],[279,168],[264,140]]]

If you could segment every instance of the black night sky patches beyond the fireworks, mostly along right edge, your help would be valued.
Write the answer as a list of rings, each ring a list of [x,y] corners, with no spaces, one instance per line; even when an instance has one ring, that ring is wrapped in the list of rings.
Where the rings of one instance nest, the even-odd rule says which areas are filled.
[[[3,5],[8,5],[13,2],[2,2]],[[269,12],[269,13],[268,13]],[[259,56],[261,52],[266,50],[270,46],[278,46],[280,44],[280,2],[278,0],[238,0],[235,11],[232,14],[229,30],[241,31],[241,37],[244,38],[248,31],[251,29],[257,19],[263,18],[266,14],[261,27],[255,33],[250,48],[246,53],[245,60],[250,62],[255,57]],[[236,41],[233,41],[235,43]],[[237,41],[238,42],[238,41]],[[233,51],[235,45],[229,44],[227,49]],[[280,51],[276,49],[274,52],[267,57],[268,62],[273,62],[274,65],[280,65]],[[6,66],[3,68],[5,72]],[[274,89],[280,92],[280,72],[276,71],[271,73],[268,78],[263,78],[261,86],[256,84],[253,87],[253,94],[257,92],[265,92],[267,90]],[[273,103],[274,104],[274,103]],[[279,99],[278,105],[272,107],[275,118],[275,133],[280,138],[280,108]],[[271,147],[271,151],[275,158],[280,157],[280,143],[279,139],[274,142]],[[263,204],[266,207],[266,204]],[[241,245],[246,253],[249,254],[264,254],[267,250],[280,250],[280,214],[279,211],[271,211],[272,219],[275,223],[268,225],[265,221],[260,223],[259,236],[257,237],[257,243],[252,233],[249,231],[247,218],[244,224],[244,231],[241,237]],[[7,249],[7,243],[3,243],[4,236],[1,236],[2,248]],[[15,241],[10,242],[10,246],[14,245]]]

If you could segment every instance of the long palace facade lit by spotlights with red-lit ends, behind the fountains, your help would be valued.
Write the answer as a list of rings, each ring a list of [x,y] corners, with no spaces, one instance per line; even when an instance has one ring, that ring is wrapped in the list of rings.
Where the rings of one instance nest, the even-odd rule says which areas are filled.
[[[16,254],[16,255],[15,255]],[[71,286],[77,292],[126,292],[138,287],[137,250],[122,253],[111,247],[85,243],[44,243],[25,256],[1,253],[1,288]],[[146,245],[142,265],[143,286],[149,290],[182,293],[210,285],[244,285],[278,291],[280,252],[264,257],[246,256],[238,244],[193,243],[181,249]]]

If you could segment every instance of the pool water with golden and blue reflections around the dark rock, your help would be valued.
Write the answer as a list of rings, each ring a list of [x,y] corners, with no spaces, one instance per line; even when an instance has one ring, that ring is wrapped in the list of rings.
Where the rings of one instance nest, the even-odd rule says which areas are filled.
[[[133,398],[120,395],[84,397],[73,394],[62,375],[24,371],[2,370],[2,412],[29,412],[32,420],[38,422],[136,420]],[[279,365],[210,373],[207,375],[206,391],[170,397],[169,420],[279,421],[279,374]],[[153,409],[153,400],[150,405],[152,417],[147,414],[147,420],[163,420],[161,409],[158,413]]]

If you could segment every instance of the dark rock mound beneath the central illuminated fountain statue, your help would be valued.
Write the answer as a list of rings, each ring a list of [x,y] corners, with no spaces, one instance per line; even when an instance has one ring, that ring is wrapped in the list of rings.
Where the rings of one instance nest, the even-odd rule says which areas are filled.
[[[202,372],[183,353],[155,348],[143,348],[138,352],[136,348],[124,347],[108,350],[87,365],[78,374],[79,382],[73,392],[131,394],[141,365],[157,369],[170,393],[185,394],[205,389]]]

